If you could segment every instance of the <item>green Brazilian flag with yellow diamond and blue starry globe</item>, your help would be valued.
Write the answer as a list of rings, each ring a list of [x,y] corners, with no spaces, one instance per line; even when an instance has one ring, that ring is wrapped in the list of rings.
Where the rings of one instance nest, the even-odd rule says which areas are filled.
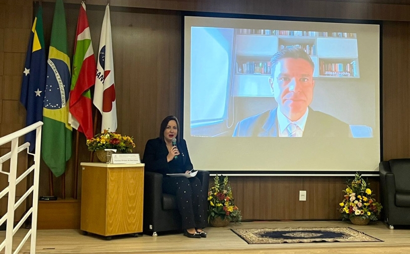
[[[47,61],[41,145],[43,160],[56,177],[64,174],[72,150],[72,127],[68,123],[71,68],[67,53],[66,14],[63,0],[57,0]]]

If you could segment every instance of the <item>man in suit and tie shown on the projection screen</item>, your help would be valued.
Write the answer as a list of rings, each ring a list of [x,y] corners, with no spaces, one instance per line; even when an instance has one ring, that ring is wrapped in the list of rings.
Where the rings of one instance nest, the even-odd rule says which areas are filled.
[[[278,106],[240,121],[233,136],[351,136],[349,125],[309,107],[314,68],[303,49],[286,48],[276,53],[271,59],[269,83]]]

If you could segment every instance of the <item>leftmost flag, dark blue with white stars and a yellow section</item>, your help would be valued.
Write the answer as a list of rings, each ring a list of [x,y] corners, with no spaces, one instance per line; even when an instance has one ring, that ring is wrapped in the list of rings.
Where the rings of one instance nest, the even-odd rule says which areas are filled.
[[[27,110],[26,126],[43,120],[43,100],[46,85],[46,53],[43,35],[43,8],[39,6],[30,33],[26,62],[21,84],[20,102]],[[36,132],[26,134],[25,141],[30,142],[30,152],[35,148]]]

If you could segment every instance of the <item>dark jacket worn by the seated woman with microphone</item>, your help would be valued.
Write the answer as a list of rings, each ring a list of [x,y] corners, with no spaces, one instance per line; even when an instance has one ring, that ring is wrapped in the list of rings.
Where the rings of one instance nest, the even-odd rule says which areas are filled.
[[[145,163],[145,170],[165,175],[185,173],[185,171],[190,171],[191,169],[193,169],[185,139],[180,139],[180,142],[176,144],[176,147],[178,147],[179,150],[178,160],[182,159],[182,165],[174,164],[175,167],[170,167],[169,165],[172,164],[166,161],[168,149],[166,148],[165,142],[162,141],[159,137],[148,140],[147,144],[145,145],[143,158],[143,162]]]

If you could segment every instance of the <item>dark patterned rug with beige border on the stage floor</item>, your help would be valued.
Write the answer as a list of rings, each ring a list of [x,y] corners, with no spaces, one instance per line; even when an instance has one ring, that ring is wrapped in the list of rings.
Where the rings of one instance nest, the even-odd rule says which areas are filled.
[[[348,227],[231,229],[248,244],[383,242]]]

